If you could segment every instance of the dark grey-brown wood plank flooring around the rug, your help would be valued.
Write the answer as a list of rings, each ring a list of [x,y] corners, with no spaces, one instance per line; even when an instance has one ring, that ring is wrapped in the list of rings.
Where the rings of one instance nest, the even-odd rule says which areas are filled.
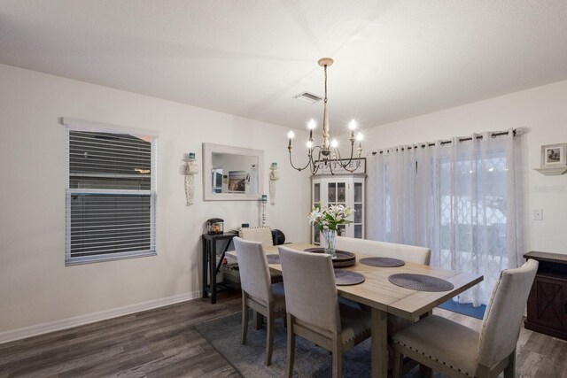
[[[216,305],[195,299],[0,344],[0,377],[240,376],[193,328],[240,310],[239,293],[222,296]],[[480,329],[480,320],[434,313]],[[567,342],[522,328],[517,376],[567,378]]]

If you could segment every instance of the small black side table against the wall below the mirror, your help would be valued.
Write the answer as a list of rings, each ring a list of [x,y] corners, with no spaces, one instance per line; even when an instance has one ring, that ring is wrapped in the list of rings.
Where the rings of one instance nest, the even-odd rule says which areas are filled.
[[[224,285],[217,285],[216,274],[221,269],[222,259],[224,254],[229,249],[230,242],[232,238],[237,236],[236,233],[224,233],[218,235],[207,235],[203,234],[203,297],[208,297],[208,293],[211,293],[211,303],[216,303],[216,293],[228,289]],[[216,264],[217,248],[216,243],[221,240],[225,241],[223,247],[221,260],[219,264]],[[210,280],[210,282],[209,282]]]

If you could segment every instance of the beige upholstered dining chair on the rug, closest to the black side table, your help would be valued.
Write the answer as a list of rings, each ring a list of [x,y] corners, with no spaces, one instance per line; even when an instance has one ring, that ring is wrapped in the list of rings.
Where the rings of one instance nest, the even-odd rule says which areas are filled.
[[[242,286],[242,343],[248,333],[248,308],[266,317],[266,365],[272,362],[274,320],[285,316],[283,283],[270,281],[268,260],[260,242],[232,239],[237,251]]]

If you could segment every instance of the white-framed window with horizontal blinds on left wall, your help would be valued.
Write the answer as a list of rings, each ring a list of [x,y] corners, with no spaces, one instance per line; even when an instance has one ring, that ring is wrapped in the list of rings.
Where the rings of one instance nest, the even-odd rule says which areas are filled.
[[[155,135],[64,123],[66,265],[155,255]]]

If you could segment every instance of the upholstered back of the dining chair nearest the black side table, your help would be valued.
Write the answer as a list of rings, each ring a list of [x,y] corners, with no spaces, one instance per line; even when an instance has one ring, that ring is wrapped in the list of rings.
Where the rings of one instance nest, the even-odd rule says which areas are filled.
[[[232,239],[237,250],[240,285],[251,297],[263,305],[274,300],[269,276],[268,259],[262,248],[262,243],[251,242],[240,237]]]

